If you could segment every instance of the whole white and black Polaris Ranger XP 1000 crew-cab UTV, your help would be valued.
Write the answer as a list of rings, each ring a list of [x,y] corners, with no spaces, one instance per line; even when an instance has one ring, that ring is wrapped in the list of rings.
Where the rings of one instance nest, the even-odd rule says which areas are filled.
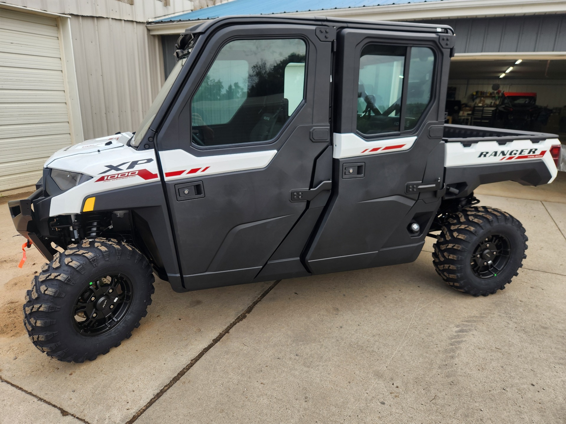
[[[406,263],[432,232],[445,282],[503,289],[525,230],[473,190],[550,183],[560,142],[445,125],[454,38],[327,18],[187,29],[138,131],[59,150],[9,203],[48,262],[24,305],[33,343],[107,353],[145,316],[153,272],[182,292]]]

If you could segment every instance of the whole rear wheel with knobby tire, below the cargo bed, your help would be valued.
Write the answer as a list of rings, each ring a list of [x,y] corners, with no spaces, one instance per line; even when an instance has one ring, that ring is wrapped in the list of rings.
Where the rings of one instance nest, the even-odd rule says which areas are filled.
[[[525,228],[504,212],[468,206],[448,215],[434,244],[436,272],[454,289],[473,296],[503,290],[522,267]]]

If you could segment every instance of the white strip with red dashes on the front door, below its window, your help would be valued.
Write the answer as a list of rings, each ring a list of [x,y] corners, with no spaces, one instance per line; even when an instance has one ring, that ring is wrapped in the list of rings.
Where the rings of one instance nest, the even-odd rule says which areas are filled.
[[[269,165],[277,150],[246,152],[197,157],[185,150],[160,152],[165,180],[178,180],[190,176],[224,174],[225,172],[260,169]]]

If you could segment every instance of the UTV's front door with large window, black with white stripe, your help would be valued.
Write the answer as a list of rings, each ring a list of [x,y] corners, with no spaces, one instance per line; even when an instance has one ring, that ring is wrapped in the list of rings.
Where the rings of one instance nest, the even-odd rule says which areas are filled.
[[[188,289],[308,275],[299,256],[318,216],[305,219],[307,192],[332,167],[332,42],[315,31],[238,25],[209,36],[157,135]]]

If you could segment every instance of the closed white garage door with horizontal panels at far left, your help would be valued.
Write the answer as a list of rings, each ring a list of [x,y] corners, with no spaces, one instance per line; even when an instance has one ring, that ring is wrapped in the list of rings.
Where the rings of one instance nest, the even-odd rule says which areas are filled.
[[[35,184],[70,144],[57,21],[0,8],[0,191]]]

